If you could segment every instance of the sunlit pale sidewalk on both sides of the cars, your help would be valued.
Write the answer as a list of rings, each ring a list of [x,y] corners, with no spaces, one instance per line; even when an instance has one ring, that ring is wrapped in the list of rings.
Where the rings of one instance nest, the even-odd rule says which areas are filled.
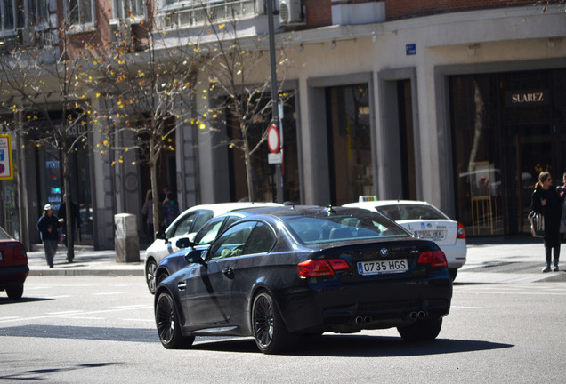
[[[42,244],[36,244],[28,252],[30,276],[144,276],[145,248],[141,244],[140,261],[117,262],[116,252],[94,251],[92,246],[77,245],[75,260],[68,263],[67,249],[60,244],[55,254],[54,267],[45,262]],[[566,248],[566,244],[563,248]],[[566,254],[566,251],[562,252]],[[561,269],[566,270],[566,256]],[[458,270],[457,284],[495,284],[530,282],[566,282],[566,273],[543,274],[545,252],[542,240],[531,237],[511,239],[468,239],[467,261]],[[481,273],[479,273],[481,272]]]

